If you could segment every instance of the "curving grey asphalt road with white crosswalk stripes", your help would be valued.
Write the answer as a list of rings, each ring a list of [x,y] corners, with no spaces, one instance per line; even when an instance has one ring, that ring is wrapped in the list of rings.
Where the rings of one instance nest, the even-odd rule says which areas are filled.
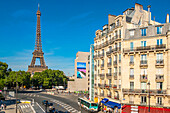
[[[45,111],[45,107],[42,105],[43,100],[48,100],[49,102],[53,103],[53,106],[59,111],[59,113],[78,113],[80,111],[81,113],[88,113],[83,108],[80,109],[77,104],[78,96],[75,96],[73,94],[58,94],[54,96],[38,91],[24,91],[19,92],[18,97],[25,100],[34,99],[33,107],[37,111],[37,113],[43,113]]]

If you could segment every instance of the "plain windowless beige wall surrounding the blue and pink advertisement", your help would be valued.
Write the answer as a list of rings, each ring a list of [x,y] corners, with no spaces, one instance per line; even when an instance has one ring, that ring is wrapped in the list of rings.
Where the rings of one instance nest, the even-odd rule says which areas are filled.
[[[89,52],[77,52],[76,59],[75,59],[75,75],[74,75],[74,81],[68,81],[68,91],[74,92],[74,91],[88,91],[89,89],[89,64],[88,64],[88,56]],[[77,75],[78,69],[77,69],[77,63],[85,63],[86,64],[86,75],[83,78],[79,78]],[[73,78],[73,77],[72,77]]]

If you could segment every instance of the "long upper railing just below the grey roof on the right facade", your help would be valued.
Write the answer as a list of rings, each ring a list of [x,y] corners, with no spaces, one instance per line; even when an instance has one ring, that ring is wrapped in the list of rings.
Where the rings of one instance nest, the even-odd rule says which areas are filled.
[[[148,51],[148,50],[157,50],[157,49],[165,49],[166,44],[162,45],[152,45],[152,46],[146,46],[146,47],[136,47],[136,48],[128,48],[128,49],[123,49],[123,52],[135,52],[135,51]]]

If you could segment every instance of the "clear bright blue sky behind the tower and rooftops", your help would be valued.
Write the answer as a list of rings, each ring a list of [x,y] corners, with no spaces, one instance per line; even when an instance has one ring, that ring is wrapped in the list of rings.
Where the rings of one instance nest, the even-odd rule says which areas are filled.
[[[74,74],[78,51],[88,52],[95,31],[108,22],[108,14],[119,15],[138,2],[152,18],[165,22],[169,0],[0,0],[0,61],[13,70],[31,63],[36,37],[36,11],[40,3],[41,38],[45,62],[51,69]]]

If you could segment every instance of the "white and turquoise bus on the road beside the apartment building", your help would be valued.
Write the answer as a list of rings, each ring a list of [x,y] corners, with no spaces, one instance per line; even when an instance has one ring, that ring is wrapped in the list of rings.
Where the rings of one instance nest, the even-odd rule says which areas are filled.
[[[98,104],[94,103],[90,100],[87,100],[85,98],[78,98],[78,105],[80,107],[83,107],[84,109],[91,111],[91,112],[96,112],[98,111]]]

